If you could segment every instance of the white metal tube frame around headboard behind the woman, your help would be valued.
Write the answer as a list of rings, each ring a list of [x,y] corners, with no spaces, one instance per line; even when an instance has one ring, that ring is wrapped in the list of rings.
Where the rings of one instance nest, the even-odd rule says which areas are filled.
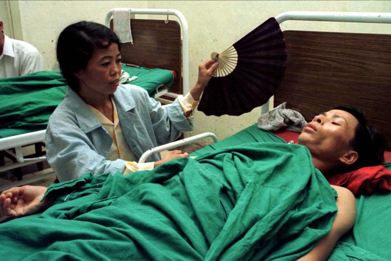
[[[182,70],[183,70],[183,94],[189,92],[189,32],[187,27],[187,21],[185,16],[176,9],[137,9],[131,8],[129,10],[130,14],[163,14],[163,15],[175,15],[179,18],[181,23],[182,30]],[[104,24],[110,28],[110,20],[113,16],[113,9],[111,9],[106,14],[106,19]],[[167,96],[177,97],[178,95],[173,95],[170,93],[165,94]]]

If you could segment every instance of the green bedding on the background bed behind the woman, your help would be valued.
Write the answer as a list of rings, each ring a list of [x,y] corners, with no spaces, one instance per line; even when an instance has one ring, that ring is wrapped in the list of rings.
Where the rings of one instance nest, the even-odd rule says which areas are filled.
[[[145,88],[150,95],[158,86],[170,86],[174,81],[169,70],[125,65],[122,68],[130,76],[138,76],[129,84]],[[65,79],[59,72],[43,71],[0,79],[0,138],[45,130],[65,92]]]

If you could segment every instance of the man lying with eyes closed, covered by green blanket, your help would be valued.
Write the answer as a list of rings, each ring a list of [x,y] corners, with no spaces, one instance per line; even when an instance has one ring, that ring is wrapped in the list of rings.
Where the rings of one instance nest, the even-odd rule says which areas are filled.
[[[133,248],[126,245],[126,249],[133,249],[129,250],[132,255],[137,252],[143,258],[162,259],[167,253],[161,252],[161,249],[168,247],[170,254],[181,254],[179,259],[226,257],[243,260],[251,257],[273,259],[291,256],[292,259],[301,257],[301,260],[325,260],[337,240],[354,224],[355,198],[347,189],[332,186],[338,195],[338,211],[335,215],[335,194],[319,171],[326,173],[345,166],[381,164],[384,137],[366,124],[364,115],[358,110],[338,107],[321,113],[308,123],[298,143],[308,150],[303,146],[289,144],[264,143],[259,146],[249,143],[246,146],[220,149],[195,160],[181,158],[163,164],[154,171],[140,171],[133,176],[125,177],[120,173],[114,176],[84,175],[78,180],[54,184],[48,189],[33,186],[13,188],[1,194],[1,214],[13,217],[31,215],[54,204],[43,214],[19,222],[19,225],[23,223],[27,227],[34,226],[37,231],[32,237],[27,236],[30,238],[28,242],[19,246],[19,249],[26,249],[26,253],[29,251],[27,244],[36,251],[46,251],[46,254],[49,253],[47,250],[61,250],[65,253],[70,251],[74,254],[72,251],[75,251],[75,245],[70,246],[70,242],[78,238],[84,239],[84,235],[91,233],[83,244],[88,239],[94,243],[89,243],[88,247],[83,245],[80,251],[84,255],[93,255],[91,249],[97,247],[97,240],[102,240],[102,235],[96,235],[95,231],[100,231],[103,226],[105,229],[114,227],[120,234],[130,233],[126,238],[131,238],[130,241],[136,243]],[[164,193],[161,186],[166,186]],[[95,198],[93,203],[83,201],[83,198],[104,193],[104,197],[99,197],[99,200]],[[165,198],[165,193],[171,193],[171,196]],[[40,202],[44,194],[44,200]],[[126,195],[131,197],[122,200],[118,203],[119,209],[115,209],[114,198],[120,199]],[[155,202],[159,198],[161,200]],[[260,199],[262,200],[259,201]],[[107,205],[100,207],[108,200]],[[125,211],[127,205],[130,207]],[[154,207],[153,211],[151,206]],[[183,212],[184,208],[187,209]],[[161,216],[162,210],[164,213]],[[97,215],[99,211],[102,213]],[[86,221],[86,215],[92,212],[95,213],[92,220],[90,216],[87,225],[79,228],[81,221]],[[102,221],[97,216],[107,216],[107,219]],[[189,218],[183,221],[185,216]],[[45,223],[43,218],[51,220]],[[166,221],[162,221],[166,219],[170,220],[168,232],[162,229],[167,226]],[[121,223],[116,228],[113,220],[121,220],[126,224]],[[21,238],[26,237],[23,234],[26,232],[19,231],[20,227],[13,227],[16,221],[18,220],[0,226],[0,235],[13,238],[13,246],[24,242]],[[74,223],[68,223],[69,221]],[[145,227],[142,225],[144,223]],[[43,230],[54,224],[58,226],[55,231],[50,230],[45,234]],[[157,228],[154,227],[156,224]],[[128,230],[123,229],[123,226],[127,225],[132,232],[125,232]],[[74,230],[70,228],[73,226]],[[189,233],[192,227],[198,229]],[[79,234],[81,230],[82,235]],[[178,235],[175,233],[177,230],[180,231]],[[110,230],[104,234],[111,232]],[[21,234],[18,236],[19,233]],[[56,235],[55,239],[50,236],[52,233]],[[149,238],[151,235],[154,237]],[[205,242],[200,243],[199,238],[206,238]],[[53,243],[53,240],[56,242]],[[114,239],[102,241],[104,243],[109,242],[108,240]],[[121,244],[124,240],[120,240]],[[10,239],[4,238],[1,241],[8,242]],[[39,248],[42,246],[34,245],[32,241],[49,243],[44,248]],[[64,241],[67,245],[61,245]],[[182,245],[183,242],[185,245]],[[75,244],[80,245],[81,242]],[[114,241],[112,244],[109,249],[117,249]],[[159,244],[168,246],[159,247]],[[7,252],[6,246],[3,249]],[[152,253],[159,253],[163,257],[153,256]],[[108,259],[113,258],[106,252],[104,254]],[[116,254],[115,257],[124,257],[128,253],[120,256]],[[22,256],[21,254],[20,257]],[[130,256],[130,259],[140,256]]]

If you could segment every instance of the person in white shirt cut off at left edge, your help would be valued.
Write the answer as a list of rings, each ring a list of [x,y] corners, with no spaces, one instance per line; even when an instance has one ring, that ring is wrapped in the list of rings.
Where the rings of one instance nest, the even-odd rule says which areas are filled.
[[[11,39],[4,34],[0,17],[0,78],[24,76],[45,70],[38,50],[30,43]]]

